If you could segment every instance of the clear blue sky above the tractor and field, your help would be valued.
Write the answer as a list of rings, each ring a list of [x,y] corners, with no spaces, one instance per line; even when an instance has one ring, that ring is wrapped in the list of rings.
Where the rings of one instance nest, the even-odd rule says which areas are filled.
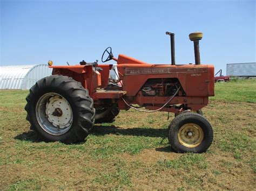
[[[104,49],[149,63],[194,63],[188,34],[204,33],[201,63],[255,62],[255,1],[12,1],[1,4],[0,65],[74,65]],[[109,61],[111,63],[114,61]]]

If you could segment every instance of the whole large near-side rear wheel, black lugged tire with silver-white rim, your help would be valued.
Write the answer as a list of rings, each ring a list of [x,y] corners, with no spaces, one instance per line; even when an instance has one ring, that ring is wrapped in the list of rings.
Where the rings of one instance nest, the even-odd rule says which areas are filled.
[[[71,77],[44,77],[31,87],[26,101],[30,129],[46,142],[80,142],[93,127],[93,100]]]

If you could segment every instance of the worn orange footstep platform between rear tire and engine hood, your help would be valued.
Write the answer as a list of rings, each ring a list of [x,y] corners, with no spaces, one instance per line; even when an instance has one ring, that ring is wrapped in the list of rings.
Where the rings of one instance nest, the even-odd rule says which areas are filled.
[[[119,99],[126,94],[126,91],[122,90],[107,90],[107,89],[97,89],[95,93],[92,94],[92,97],[96,97],[98,99]]]

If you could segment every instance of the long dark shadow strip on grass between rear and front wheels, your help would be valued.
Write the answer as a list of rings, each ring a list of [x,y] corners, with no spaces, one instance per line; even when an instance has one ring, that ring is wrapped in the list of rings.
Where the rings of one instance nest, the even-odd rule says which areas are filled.
[[[124,136],[144,136],[144,137],[167,137],[167,129],[152,129],[152,128],[129,128],[122,129],[118,126],[110,125],[110,126],[101,126],[95,125],[91,134],[96,136],[103,135],[124,135]]]

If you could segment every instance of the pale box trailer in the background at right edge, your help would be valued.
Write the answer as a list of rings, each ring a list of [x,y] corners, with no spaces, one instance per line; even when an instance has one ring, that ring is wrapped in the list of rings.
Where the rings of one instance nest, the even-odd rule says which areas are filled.
[[[227,75],[234,77],[256,77],[256,62],[227,63]]]

